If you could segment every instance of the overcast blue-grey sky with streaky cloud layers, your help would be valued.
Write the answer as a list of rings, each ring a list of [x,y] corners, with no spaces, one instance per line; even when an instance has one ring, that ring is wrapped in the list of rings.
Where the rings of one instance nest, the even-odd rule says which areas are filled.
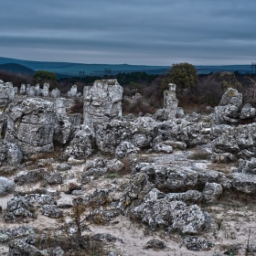
[[[256,62],[255,0],[1,0],[0,56],[171,66]]]

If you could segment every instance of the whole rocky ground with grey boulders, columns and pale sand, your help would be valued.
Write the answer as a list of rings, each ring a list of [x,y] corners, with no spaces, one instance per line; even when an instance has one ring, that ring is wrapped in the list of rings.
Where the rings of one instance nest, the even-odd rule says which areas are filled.
[[[256,255],[256,110],[229,88],[186,114],[169,86],[135,117],[117,80],[0,80],[0,254]]]

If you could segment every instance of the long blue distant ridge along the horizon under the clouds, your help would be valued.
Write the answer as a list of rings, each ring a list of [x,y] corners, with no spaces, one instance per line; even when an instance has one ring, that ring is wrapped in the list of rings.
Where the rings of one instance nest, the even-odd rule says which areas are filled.
[[[79,77],[80,71],[85,76],[103,76],[104,74],[112,75],[117,73],[130,73],[134,71],[145,71],[148,74],[166,73],[170,66],[146,66],[146,65],[128,65],[128,64],[81,64],[69,62],[49,62],[49,61],[32,61],[22,59],[10,59],[0,57],[0,64],[15,63],[27,67],[28,69],[39,70],[45,69],[55,72],[58,78]],[[219,71],[238,71],[241,74],[251,73],[251,65],[222,65],[222,66],[196,66],[198,74],[208,74]]]

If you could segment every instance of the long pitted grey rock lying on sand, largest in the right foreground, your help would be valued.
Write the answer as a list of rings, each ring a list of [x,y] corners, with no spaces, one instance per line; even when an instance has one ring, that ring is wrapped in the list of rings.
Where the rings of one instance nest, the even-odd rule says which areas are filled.
[[[211,218],[197,205],[187,205],[182,201],[169,201],[165,194],[152,189],[143,202],[130,210],[130,216],[142,219],[151,229],[159,225],[168,227],[168,231],[178,230],[184,234],[195,235],[209,227]]]

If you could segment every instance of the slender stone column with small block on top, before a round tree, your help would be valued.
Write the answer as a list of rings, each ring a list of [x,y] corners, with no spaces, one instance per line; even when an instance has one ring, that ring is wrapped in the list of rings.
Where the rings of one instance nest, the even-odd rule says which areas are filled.
[[[168,114],[168,120],[176,118],[177,99],[176,84],[169,83],[169,91],[164,91],[164,110]]]

